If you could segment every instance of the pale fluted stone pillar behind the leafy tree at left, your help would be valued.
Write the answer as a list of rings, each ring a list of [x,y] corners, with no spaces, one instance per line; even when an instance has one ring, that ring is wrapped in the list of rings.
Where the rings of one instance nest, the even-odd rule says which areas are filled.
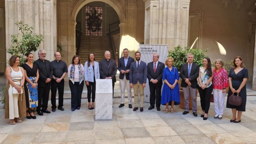
[[[44,41],[40,49],[46,50],[46,59],[54,59],[56,50],[56,0],[5,0],[6,48],[10,48],[11,35],[18,34],[17,21],[34,27],[34,32],[42,34]],[[8,60],[10,55],[6,53]],[[34,59],[38,58],[37,52]]]

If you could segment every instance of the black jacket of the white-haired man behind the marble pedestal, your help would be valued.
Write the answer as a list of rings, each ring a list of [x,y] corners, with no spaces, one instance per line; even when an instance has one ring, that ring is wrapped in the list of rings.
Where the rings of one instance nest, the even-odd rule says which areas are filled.
[[[105,79],[106,77],[112,77],[112,82],[116,82],[116,61],[110,59],[109,64],[107,64],[107,60],[103,59],[99,62],[100,67],[100,79]]]

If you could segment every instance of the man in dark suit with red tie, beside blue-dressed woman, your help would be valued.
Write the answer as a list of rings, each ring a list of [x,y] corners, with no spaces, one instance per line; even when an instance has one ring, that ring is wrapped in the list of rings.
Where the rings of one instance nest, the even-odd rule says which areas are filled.
[[[155,108],[160,111],[160,102],[161,102],[161,89],[163,84],[163,71],[164,63],[158,62],[159,54],[153,54],[153,62],[148,63],[148,82],[150,90],[150,107],[148,110]]]

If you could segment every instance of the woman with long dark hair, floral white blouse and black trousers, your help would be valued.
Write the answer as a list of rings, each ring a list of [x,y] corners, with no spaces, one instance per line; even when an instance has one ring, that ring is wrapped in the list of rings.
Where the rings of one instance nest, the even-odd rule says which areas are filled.
[[[208,118],[208,110],[210,108],[210,98],[212,94],[212,66],[210,58],[203,59],[204,66],[199,70],[198,91],[200,94],[200,102],[202,108],[203,120]]]

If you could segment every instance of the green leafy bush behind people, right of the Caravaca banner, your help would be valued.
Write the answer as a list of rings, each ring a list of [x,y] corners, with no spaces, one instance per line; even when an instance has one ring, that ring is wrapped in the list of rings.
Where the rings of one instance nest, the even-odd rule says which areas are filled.
[[[184,64],[187,61],[187,55],[193,54],[194,55],[194,63],[198,64],[200,67],[203,66],[203,58],[207,57],[205,52],[207,52],[207,49],[201,50],[199,48],[192,48],[185,47],[182,48],[181,46],[177,46],[174,48],[174,50],[168,51],[168,56],[174,58],[174,67],[178,69],[180,72],[180,68],[182,64]]]

